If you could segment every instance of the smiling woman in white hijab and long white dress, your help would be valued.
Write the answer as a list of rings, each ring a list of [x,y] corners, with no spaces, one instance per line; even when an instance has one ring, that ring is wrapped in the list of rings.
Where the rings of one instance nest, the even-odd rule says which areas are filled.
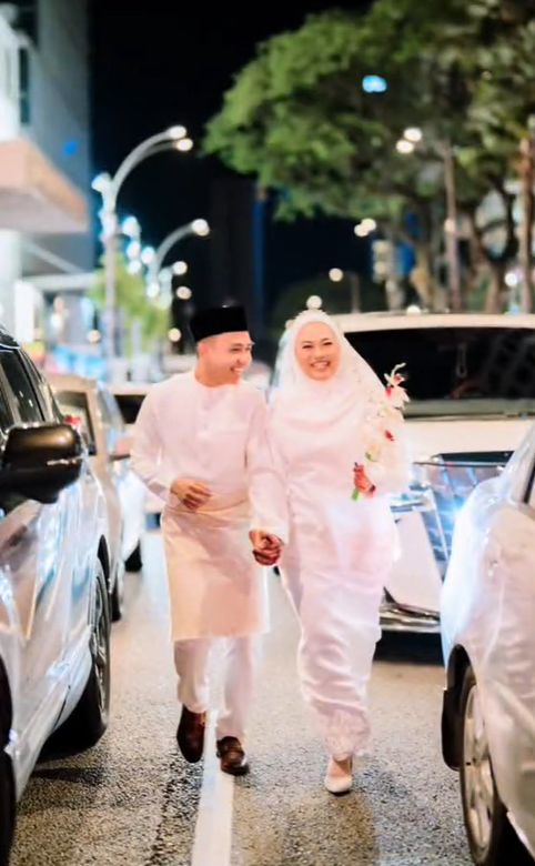
[[[366,423],[385,401],[385,387],[330,316],[297,316],[272,413],[290,514],[281,575],[301,625],[301,687],[330,755],[333,794],[351,789],[353,757],[369,742],[367,683],[396,544],[386,494],[408,479],[401,413],[387,465],[354,475],[354,464],[365,464]]]

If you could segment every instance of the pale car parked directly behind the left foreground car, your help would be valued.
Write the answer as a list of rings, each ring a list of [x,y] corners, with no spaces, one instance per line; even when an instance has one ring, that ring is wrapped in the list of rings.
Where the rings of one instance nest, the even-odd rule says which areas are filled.
[[[94,379],[51,374],[49,382],[65,417],[81,427],[93,471],[104,491],[113,573],[113,620],[121,616],[124,568],[142,568],[145,492],[133,473],[130,442],[122,415],[109,389]]]

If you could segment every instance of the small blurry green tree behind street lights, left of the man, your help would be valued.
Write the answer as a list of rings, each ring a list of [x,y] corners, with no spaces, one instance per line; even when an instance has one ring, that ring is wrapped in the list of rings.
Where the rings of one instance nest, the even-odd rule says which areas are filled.
[[[103,265],[95,272],[94,284],[89,292],[97,309],[104,310],[105,274]],[[162,340],[169,330],[169,305],[147,295],[147,286],[141,273],[132,274],[121,253],[115,262],[115,305],[120,314],[127,355],[131,355],[132,326],[140,326],[142,351],[151,351],[154,342]]]

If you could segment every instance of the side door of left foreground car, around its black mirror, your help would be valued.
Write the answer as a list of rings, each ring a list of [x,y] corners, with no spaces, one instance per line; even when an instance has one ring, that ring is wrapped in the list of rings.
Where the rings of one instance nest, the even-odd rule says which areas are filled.
[[[10,414],[3,423],[46,421],[18,350],[0,348],[0,389]],[[74,527],[64,497],[42,505],[23,496],[2,495],[0,507],[0,564],[11,582],[20,635],[17,733],[21,748],[28,748],[24,739],[44,738],[51,729],[67,691],[63,662],[70,598],[62,576],[68,571],[64,540]]]

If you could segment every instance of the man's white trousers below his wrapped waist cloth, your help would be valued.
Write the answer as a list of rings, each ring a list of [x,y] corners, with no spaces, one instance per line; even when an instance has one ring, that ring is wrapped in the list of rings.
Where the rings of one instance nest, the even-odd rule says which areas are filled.
[[[174,666],[179,676],[179,701],[192,713],[210,709],[210,668],[216,650],[223,652],[223,703],[215,736],[216,739],[238,737],[243,743],[259,656],[255,635],[176,641]]]

